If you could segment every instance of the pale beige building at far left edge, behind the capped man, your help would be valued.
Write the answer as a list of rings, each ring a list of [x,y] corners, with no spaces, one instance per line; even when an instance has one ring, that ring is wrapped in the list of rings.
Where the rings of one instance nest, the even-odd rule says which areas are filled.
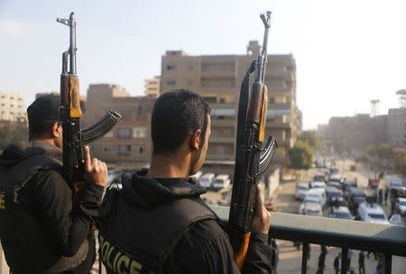
[[[25,120],[23,96],[0,91],[0,121],[23,122]]]

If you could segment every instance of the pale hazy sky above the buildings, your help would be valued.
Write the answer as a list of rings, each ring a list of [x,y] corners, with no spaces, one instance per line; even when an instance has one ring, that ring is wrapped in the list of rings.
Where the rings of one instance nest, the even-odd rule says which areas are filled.
[[[112,83],[143,95],[161,74],[166,50],[189,55],[245,54],[263,39],[259,14],[272,11],[268,52],[292,53],[304,129],[331,116],[398,107],[406,88],[406,1],[395,0],[0,0],[0,90],[59,91],[61,53],[75,12],[80,93]],[[272,62],[272,59],[269,61]],[[272,87],[271,87],[272,88]]]

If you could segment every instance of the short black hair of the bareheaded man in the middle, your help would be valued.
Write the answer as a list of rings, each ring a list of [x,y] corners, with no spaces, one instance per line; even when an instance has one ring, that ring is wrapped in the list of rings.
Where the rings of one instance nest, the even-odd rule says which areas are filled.
[[[208,102],[187,89],[163,93],[153,105],[151,135],[153,154],[176,151],[190,132],[208,129]]]

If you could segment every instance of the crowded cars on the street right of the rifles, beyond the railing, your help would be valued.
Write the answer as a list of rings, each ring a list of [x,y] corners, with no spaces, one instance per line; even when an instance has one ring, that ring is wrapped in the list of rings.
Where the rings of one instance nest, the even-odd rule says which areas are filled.
[[[334,174],[318,172],[312,182],[300,182],[296,188],[296,198],[301,200],[299,214],[322,216],[328,208],[328,217],[360,220],[378,224],[404,225],[401,215],[392,215],[389,219],[383,208],[376,204],[376,197],[357,187],[355,180],[341,178],[337,170]],[[327,179],[328,184],[326,184]],[[398,198],[397,212],[406,211],[406,198]]]

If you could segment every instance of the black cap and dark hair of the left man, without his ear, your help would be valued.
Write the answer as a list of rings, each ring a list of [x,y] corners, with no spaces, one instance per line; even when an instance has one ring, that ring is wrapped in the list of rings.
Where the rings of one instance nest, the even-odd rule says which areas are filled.
[[[27,108],[29,141],[49,131],[60,121],[60,96],[40,96]]]

